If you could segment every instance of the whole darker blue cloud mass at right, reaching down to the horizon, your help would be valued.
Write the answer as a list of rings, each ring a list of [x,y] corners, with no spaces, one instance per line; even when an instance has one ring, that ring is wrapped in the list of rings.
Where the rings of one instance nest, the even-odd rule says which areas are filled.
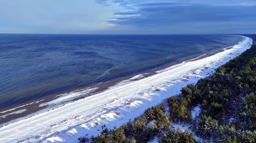
[[[239,28],[247,29],[248,32],[246,28],[249,26],[248,23],[256,25],[256,6],[244,5],[244,2],[242,0],[239,5],[227,5],[227,3],[215,5],[211,0],[207,4],[200,0],[136,3],[134,5],[136,11],[115,12],[119,16],[107,22],[116,25],[117,29],[119,26],[122,28],[127,26],[128,28],[134,27],[137,31],[148,29],[148,31],[159,33],[200,33],[200,31],[202,33],[220,31],[237,33]],[[256,31],[256,28],[251,28],[251,32],[253,31]]]

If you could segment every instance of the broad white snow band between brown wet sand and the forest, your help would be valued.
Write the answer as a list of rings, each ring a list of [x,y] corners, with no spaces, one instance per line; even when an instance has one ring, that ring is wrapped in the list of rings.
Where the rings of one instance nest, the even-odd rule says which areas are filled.
[[[180,93],[187,84],[209,76],[208,73],[214,72],[214,68],[240,55],[251,44],[252,39],[244,37],[244,41],[233,49],[204,59],[183,62],[147,78],[129,81],[70,103],[62,104],[65,99],[56,100],[48,105],[58,103],[61,106],[2,124],[0,143],[77,143],[78,137],[86,134],[88,137],[95,136],[100,134],[103,124],[112,129],[114,125],[128,122],[162,99]],[[155,91],[156,88],[160,91]]]

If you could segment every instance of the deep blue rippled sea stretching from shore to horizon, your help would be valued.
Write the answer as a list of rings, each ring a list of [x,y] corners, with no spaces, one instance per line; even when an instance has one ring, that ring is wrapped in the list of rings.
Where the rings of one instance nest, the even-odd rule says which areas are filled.
[[[233,35],[0,34],[0,110],[242,40]]]

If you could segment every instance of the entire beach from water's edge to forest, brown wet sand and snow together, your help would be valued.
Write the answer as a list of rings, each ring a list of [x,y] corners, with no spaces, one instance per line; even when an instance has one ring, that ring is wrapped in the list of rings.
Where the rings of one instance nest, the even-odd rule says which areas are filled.
[[[244,37],[240,44],[221,51],[185,57],[140,75],[97,83],[2,111],[0,142],[74,143],[87,133],[97,135],[102,124],[112,128],[126,123],[162,99],[179,93],[187,84],[209,76],[215,68],[249,49],[252,42]]]

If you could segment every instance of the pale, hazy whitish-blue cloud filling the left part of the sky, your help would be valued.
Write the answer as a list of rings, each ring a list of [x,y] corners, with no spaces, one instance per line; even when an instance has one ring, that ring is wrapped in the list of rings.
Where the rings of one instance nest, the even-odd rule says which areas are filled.
[[[115,6],[94,0],[0,1],[0,33],[77,33],[104,29]]]

